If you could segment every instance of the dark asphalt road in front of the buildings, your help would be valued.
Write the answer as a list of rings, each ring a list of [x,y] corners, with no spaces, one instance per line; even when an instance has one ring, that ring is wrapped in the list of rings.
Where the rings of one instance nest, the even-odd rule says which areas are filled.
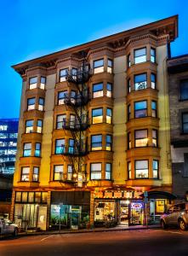
[[[187,256],[188,231],[125,230],[0,240],[0,256],[22,255]]]

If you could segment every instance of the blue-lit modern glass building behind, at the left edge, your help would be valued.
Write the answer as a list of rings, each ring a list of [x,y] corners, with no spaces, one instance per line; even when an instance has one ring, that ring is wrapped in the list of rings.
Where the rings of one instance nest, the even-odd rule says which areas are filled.
[[[0,119],[0,172],[14,173],[19,119]]]

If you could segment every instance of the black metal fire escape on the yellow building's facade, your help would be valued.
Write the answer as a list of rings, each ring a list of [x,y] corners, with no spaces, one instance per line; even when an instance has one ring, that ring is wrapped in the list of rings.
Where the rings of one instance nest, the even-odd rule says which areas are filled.
[[[72,68],[66,74],[66,81],[71,87],[71,92],[65,96],[64,103],[67,108],[71,108],[74,115],[70,119],[65,119],[63,129],[71,131],[69,144],[64,148],[63,154],[67,156],[72,166],[71,182],[81,186],[86,181],[85,157],[88,154],[87,129],[89,127],[88,108],[89,90],[88,80],[92,73],[86,61],[85,53],[82,53],[83,60],[80,67]]]

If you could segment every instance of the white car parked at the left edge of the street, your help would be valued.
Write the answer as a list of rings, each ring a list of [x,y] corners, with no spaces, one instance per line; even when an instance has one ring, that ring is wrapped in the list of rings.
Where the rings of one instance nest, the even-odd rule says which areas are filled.
[[[11,222],[9,219],[0,218],[0,235],[18,235],[18,225]]]

